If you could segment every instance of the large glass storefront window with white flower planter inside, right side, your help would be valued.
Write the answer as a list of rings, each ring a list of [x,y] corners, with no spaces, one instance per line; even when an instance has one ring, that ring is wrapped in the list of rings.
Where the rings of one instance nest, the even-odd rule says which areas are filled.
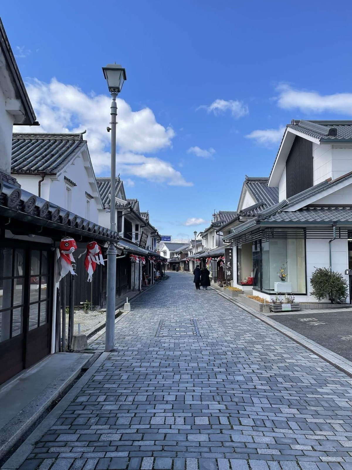
[[[283,234],[284,235],[284,234]],[[275,282],[291,283],[293,294],[306,294],[306,243],[302,238],[267,238],[237,246],[237,283],[253,277],[253,288],[268,294]]]

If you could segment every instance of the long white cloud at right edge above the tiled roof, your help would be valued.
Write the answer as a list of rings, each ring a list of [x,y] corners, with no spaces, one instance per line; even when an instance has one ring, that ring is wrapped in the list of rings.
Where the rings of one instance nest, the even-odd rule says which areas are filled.
[[[299,109],[304,113],[333,112],[352,115],[352,93],[322,95],[316,91],[294,90],[289,85],[280,85],[277,90],[277,105],[285,110]]]

